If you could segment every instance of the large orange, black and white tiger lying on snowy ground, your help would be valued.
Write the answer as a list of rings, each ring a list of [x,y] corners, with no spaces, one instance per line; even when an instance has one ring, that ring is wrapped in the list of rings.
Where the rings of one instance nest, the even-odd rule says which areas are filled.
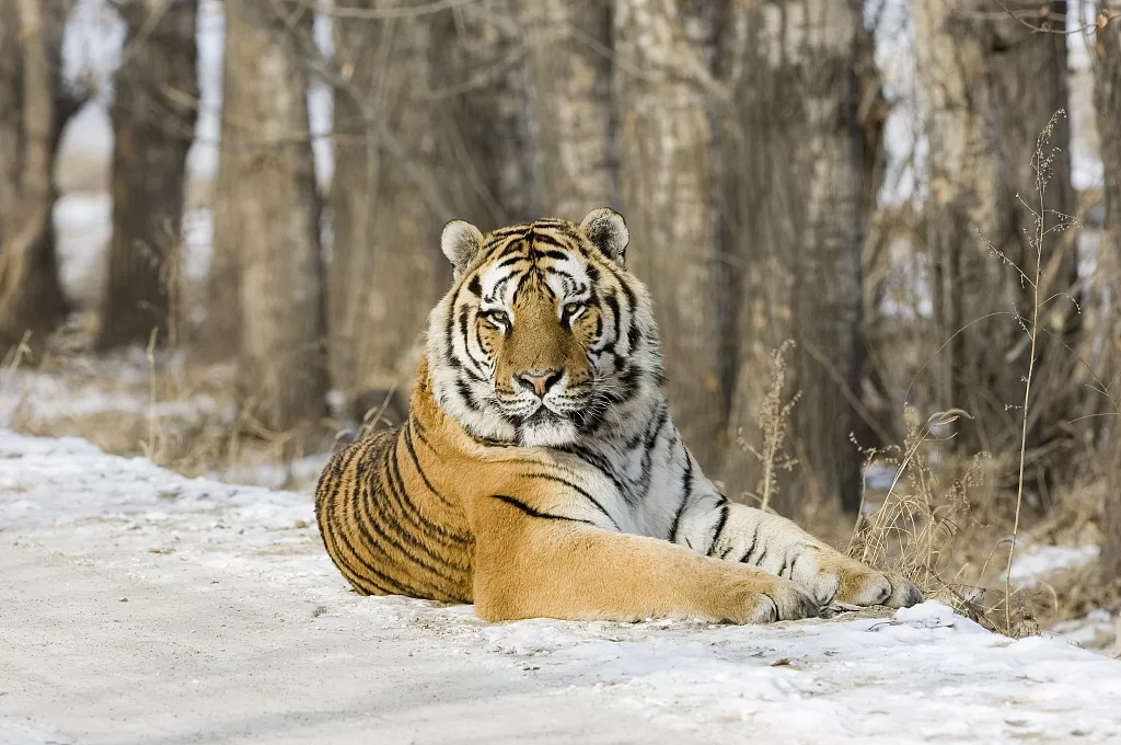
[[[316,488],[343,577],[487,622],[767,623],[921,601],[704,476],[663,394],[629,243],[606,208],[580,224],[445,226],[453,282],[408,416],[339,450]]]

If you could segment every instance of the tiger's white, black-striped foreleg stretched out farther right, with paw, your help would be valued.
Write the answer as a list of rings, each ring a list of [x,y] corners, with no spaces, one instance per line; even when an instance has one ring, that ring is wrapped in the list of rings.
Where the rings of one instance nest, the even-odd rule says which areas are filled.
[[[794,580],[822,605],[900,608],[923,601],[919,589],[902,577],[850,559],[785,517],[734,504],[711,486],[698,486],[678,513],[670,536],[675,543]]]

